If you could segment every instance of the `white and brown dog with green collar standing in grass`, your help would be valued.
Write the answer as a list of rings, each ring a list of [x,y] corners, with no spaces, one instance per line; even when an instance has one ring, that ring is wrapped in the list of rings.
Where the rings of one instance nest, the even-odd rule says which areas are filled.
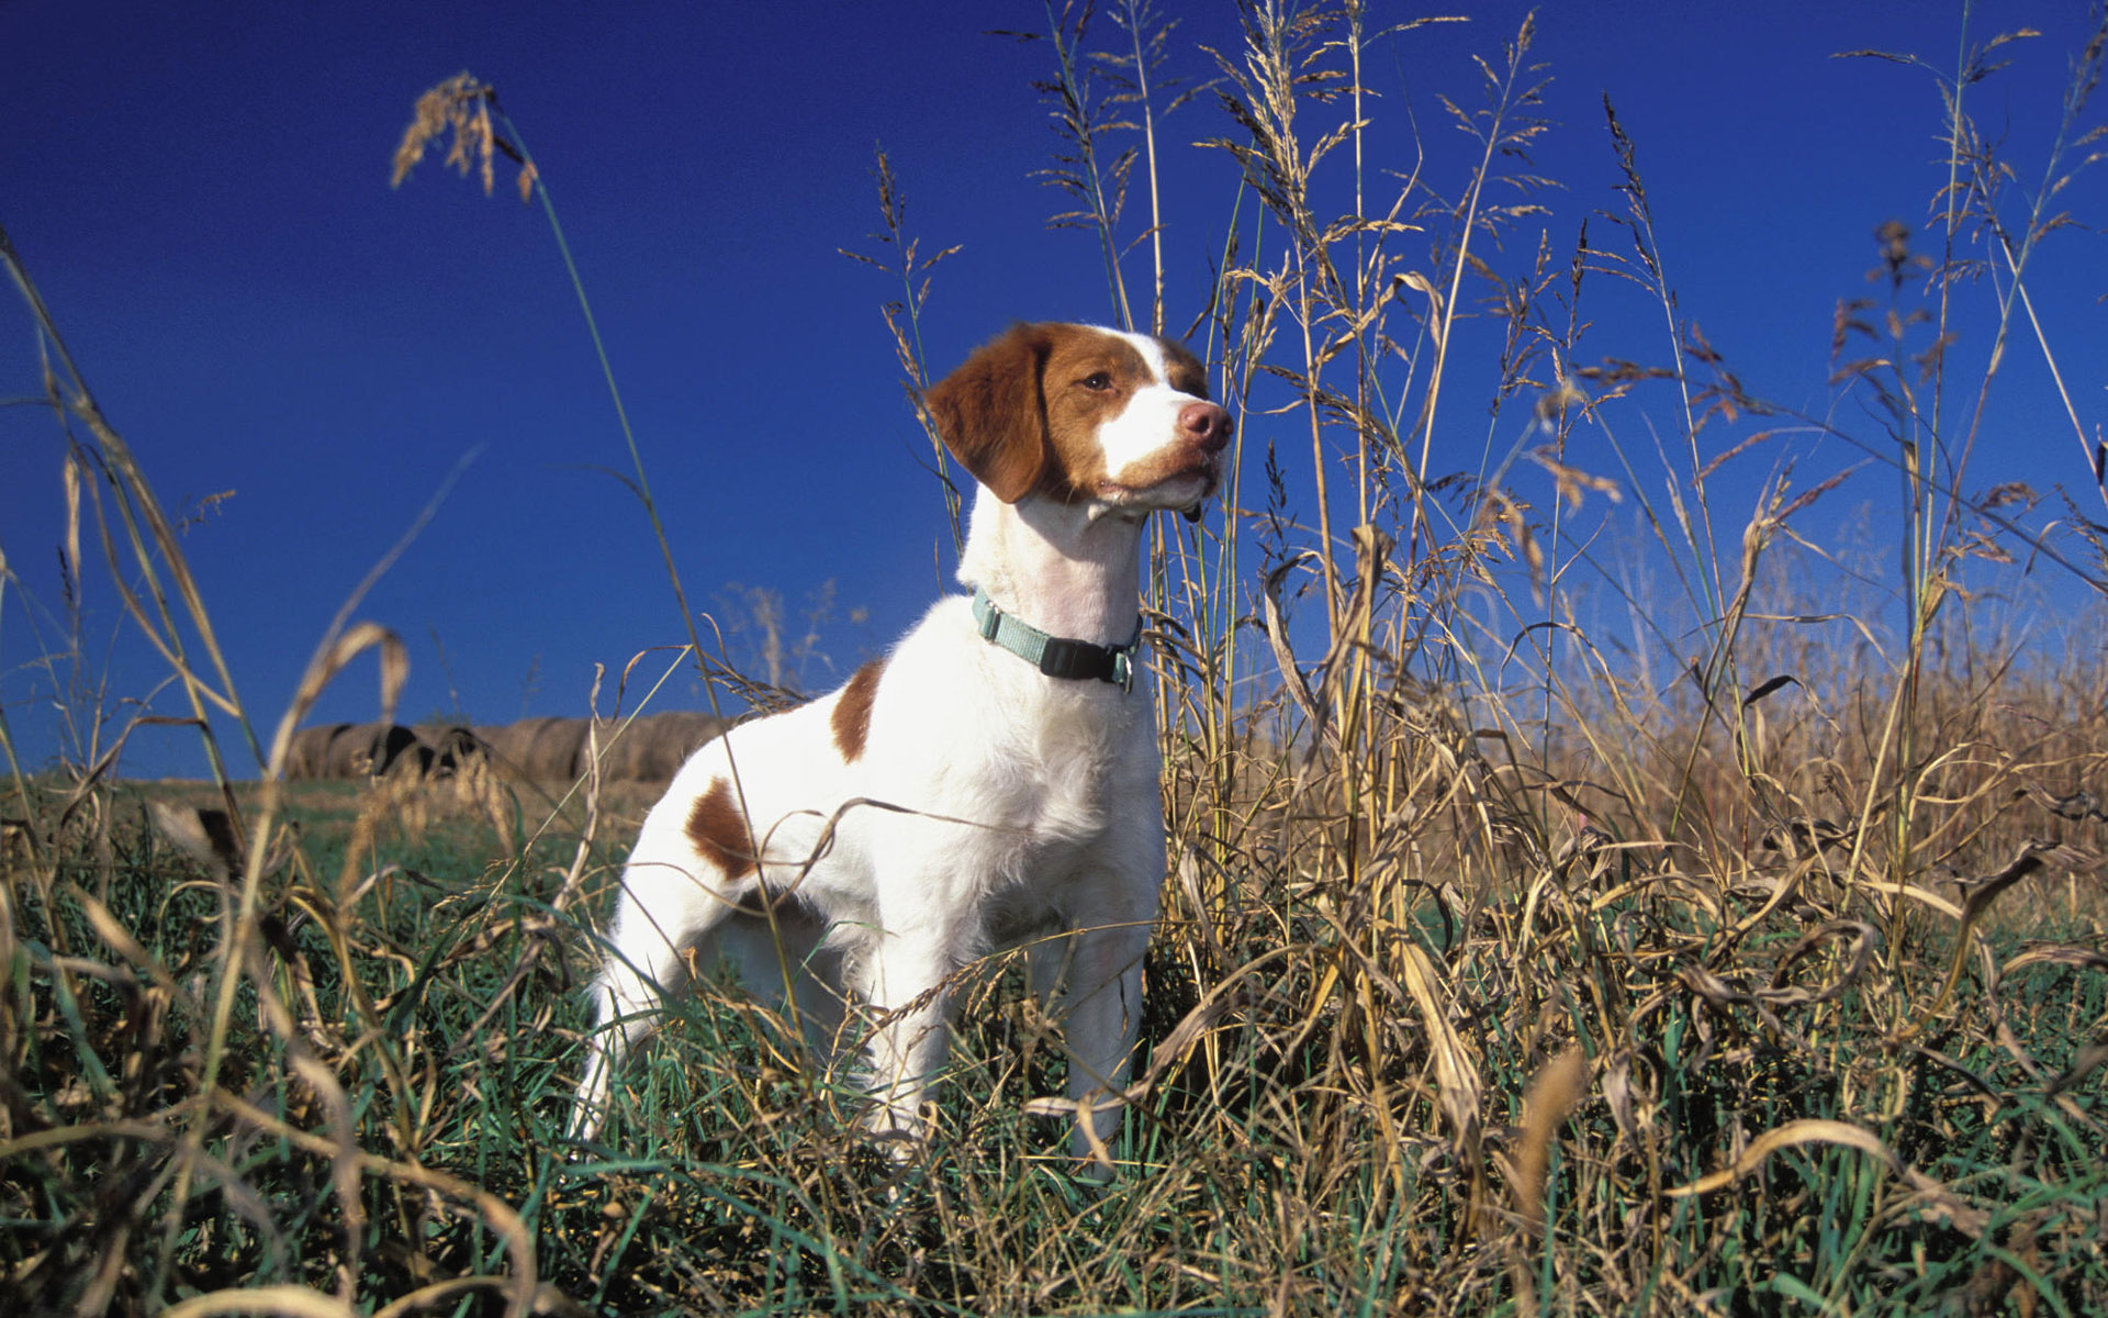
[[[702,747],[651,808],[592,989],[578,1141],[694,972],[795,1008],[814,1040],[856,1004],[868,1124],[913,1147],[961,968],[1022,945],[1065,1016],[1071,1154],[1113,1170],[1164,877],[1140,536],[1157,510],[1199,517],[1231,420],[1185,346],[1052,323],[984,344],[925,405],[978,483],[972,597],[841,690]]]

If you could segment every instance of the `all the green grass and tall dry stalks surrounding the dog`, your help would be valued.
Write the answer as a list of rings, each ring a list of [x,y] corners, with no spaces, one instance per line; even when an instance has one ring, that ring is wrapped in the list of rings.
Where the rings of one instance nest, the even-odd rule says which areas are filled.
[[[1143,226],[1143,278],[1121,207],[1189,91],[1147,4],[1105,17],[1109,40],[1050,8],[1041,91],[1073,143],[1050,181],[1115,306],[1176,333],[1164,261],[1210,253]],[[93,738],[30,774],[4,740],[6,1310],[2108,1310],[2108,666],[2032,652],[1984,588],[2017,571],[2007,546],[2081,578],[2104,555],[2083,519],[2030,544],[2015,491],[1960,493],[1998,358],[1965,380],[1946,348],[1963,327],[2036,335],[2026,289],[2055,251],[1967,116],[1996,42],[1941,76],[1939,255],[1889,234],[1882,297],[1840,304],[1838,386],[1880,422],[1861,434],[1750,396],[1678,314],[1613,108],[1619,243],[1495,245],[1545,224],[1528,27],[1486,61],[1484,105],[1455,108],[1482,150],[1448,194],[1364,164],[1343,110],[1370,40],[1360,6],[1254,6],[1208,89],[1246,188],[1191,337],[1254,447],[1227,493],[1248,515],[1166,519],[1147,582],[1172,856],[1105,1191],[1035,1116],[1060,1090],[1056,1027],[1006,962],[961,1012],[938,1137],[898,1175],[856,1135],[854,1088],[710,995],[635,1061],[622,1154],[573,1162],[582,913],[607,909],[647,799],[508,789],[514,850],[430,789],[232,780],[211,728],[278,765],[314,694],[398,643],[339,624],[278,730],[251,732],[169,519],[0,245],[57,348],[86,491],[67,561],[82,527],[108,544],[196,717],[228,715],[200,728],[207,784],[110,782]],[[2100,61],[2097,34],[2051,181],[2091,150]],[[516,137],[449,86],[422,110],[434,133]],[[902,283],[885,321],[913,392],[942,253],[917,257],[879,177],[894,264],[873,264]],[[1996,297],[1967,295],[1971,253],[2005,272]],[[1661,365],[1573,365],[1583,274],[1657,299]],[[1537,447],[1442,474],[1444,382],[1488,280],[1497,422]],[[1640,390],[1680,426],[1663,496],[1619,439]],[[1720,466],[1781,426],[1897,474],[1893,567],[1800,536],[1828,477],[1726,515]],[[1615,481],[1570,462],[1583,432]],[[1611,489],[1644,536],[1617,561],[1659,586],[1579,529],[1577,502]],[[1851,580],[1872,582],[1861,605],[1826,603]],[[1634,624],[1600,622],[1604,599]],[[223,810],[245,850],[171,848],[156,801]]]

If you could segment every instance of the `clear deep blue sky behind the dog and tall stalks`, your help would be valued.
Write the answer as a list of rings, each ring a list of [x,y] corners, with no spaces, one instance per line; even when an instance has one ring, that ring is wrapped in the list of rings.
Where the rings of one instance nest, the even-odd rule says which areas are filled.
[[[1164,8],[1180,15],[1166,74],[1206,78],[1199,46],[1235,49],[1227,4]],[[1438,97],[1478,101],[1471,57],[1499,63],[1524,6],[1377,6],[1429,13],[1471,21],[1372,53],[1370,164],[1406,169],[1417,129],[1427,177],[1450,192],[1471,143]],[[1037,4],[0,0],[0,226],[160,498],[183,510],[232,491],[186,548],[264,730],[344,597],[464,460],[358,609],[409,643],[403,713],[582,713],[594,662],[620,671],[685,628],[643,512],[607,474],[628,456],[540,209],[504,186],[485,198],[436,158],[388,188],[415,97],[474,72],[554,196],[691,601],[765,586],[797,614],[833,582],[822,658],[801,675],[824,687],[951,584],[925,441],[877,310],[896,287],[837,253],[875,251],[873,146],[906,192],[909,232],[961,247],[928,306],[936,369],[1012,318],[1109,316],[1096,249],[1046,228],[1062,198],[1031,177],[1056,146],[1029,86],[1048,51],[987,36],[1043,23]],[[2019,63],[1973,105],[2032,186],[2087,23],[2068,0],[2013,2],[1982,6],[1971,32],[2024,23],[2043,38],[2013,46]],[[1608,93],[1638,141],[1682,312],[1756,392],[1859,424],[1863,409],[1828,384],[1832,308],[1868,291],[1880,221],[1925,228],[1944,177],[1939,103],[1920,70],[1832,55],[1874,46],[1952,70],[1958,36],[1958,6],[1925,2],[1543,4],[1533,53],[1556,127],[1533,169],[1562,190],[1501,259],[1526,261],[1539,234],[1564,259],[1581,219],[1615,205]],[[1187,143],[1229,131],[1208,99],[1159,127],[1178,325],[1237,194],[1229,158]],[[2104,175],[2066,196],[2095,221],[2102,200]],[[2102,238],[2062,234],[2041,270],[2038,312],[2091,432],[2108,361]],[[1592,310],[1598,354],[1665,358],[1659,308],[1606,289]],[[38,394],[38,377],[11,297],[0,401]],[[1488,445],[1469,369],[1459,388],[1438,472],[1476,468]],[[1979,483],[2064,481],[2102,517],[2032,342],[2009,350],[1996,403]],[[1634,439],[1648,424],[1670,424],[1665,399],[1625,420]],[[1292,418],[1248,418],[1248,443],[1269,428],[1307,445]],[[61,451],[46,413],[0,409],[0,550],[15,576],[0,702],[32,761],[59,749],[32,660],[63,639]],[[1813,445],[1798,479],[1855,458]],[[1737,477],[1743,502],[1769,464]],[[1893,502],[1893,479],[1855,481],[1830,500],[1840,515]],[[91,574],[84,603],[89,675],[145,696],[162,673],[108,582]],[[700,704],[685,681],[668,698]],[[162,692],[154,709],[181,702]],[[371,713],[371,664],[320,706]],[[194,738],[150,730],[124,768],[194,776],[202,757]]]

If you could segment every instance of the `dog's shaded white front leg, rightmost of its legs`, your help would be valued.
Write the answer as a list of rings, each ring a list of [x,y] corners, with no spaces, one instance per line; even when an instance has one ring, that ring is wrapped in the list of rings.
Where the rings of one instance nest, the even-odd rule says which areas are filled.
[[[1075,1130],[1069,1151],[1094,1181],[1113,1175],[1109,1149],[1119,1135],[1121,1094],[1143,1025],[1147,949],[1147,915],[1071,934],[1067,1038]]]

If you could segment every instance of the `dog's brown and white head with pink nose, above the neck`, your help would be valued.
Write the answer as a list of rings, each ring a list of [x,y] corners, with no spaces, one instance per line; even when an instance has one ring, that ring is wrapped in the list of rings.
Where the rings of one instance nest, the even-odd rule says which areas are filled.
[[[1014,325],[928,394],[944,447],[989,493],[1199,517],[1229,413],[1185,346],[1094,325]]]

